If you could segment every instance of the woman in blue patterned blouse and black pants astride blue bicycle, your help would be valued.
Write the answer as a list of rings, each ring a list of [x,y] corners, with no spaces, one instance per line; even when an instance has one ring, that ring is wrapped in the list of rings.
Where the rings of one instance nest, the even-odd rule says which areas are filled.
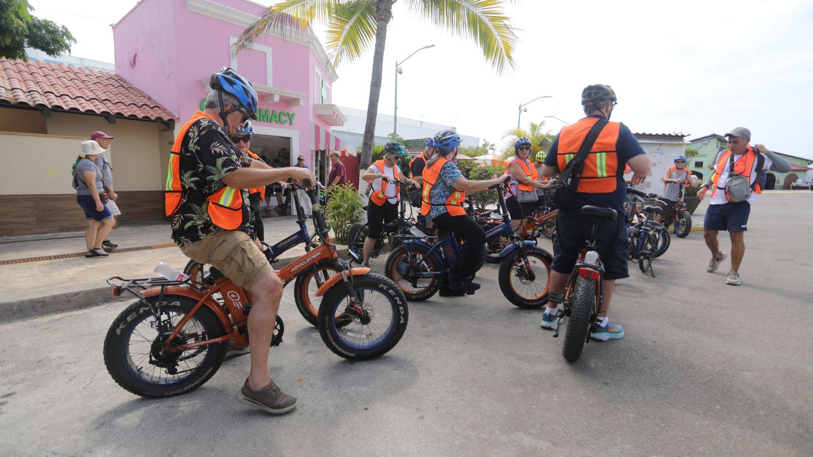
[[[450,277],[448,292],[441,295],[473,294],[480,285],[469,281],[483,264],[485,256],[485,232],[463,209],[466,193],[480,192],[492,185],[505,182],[508,176],[487,181],[470,181],[463,177],[455,159],[460,135],[452,129],[442,130],[433,139],[436,154],[424,168],[422,215],[428,216],[439,228],[445,228],[465,241],[460,250],[457,268]]]

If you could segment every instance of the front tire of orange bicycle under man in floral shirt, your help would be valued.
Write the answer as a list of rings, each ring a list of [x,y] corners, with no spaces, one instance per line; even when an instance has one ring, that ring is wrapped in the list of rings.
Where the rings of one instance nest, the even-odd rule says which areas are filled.
[[[354,289],[378,289],[381,294],[393,300],[390,305],[393,306],[393,316],[395,319],[395,329],[389,334],[389,337],[383,342],[378,343],[376,346],[368,349],[358,349],[347,346],[341,341],[339,337],[340,329],[335,325],[336,316],[343,316],[343,309],[337,309],[346,302],[347,289],[340,281],[333,285],[326,294],[319,309],[319,334],[322,341],[328,346],[334,354],[350,360],[369,360],[385,355],[395,345],[401,341],[404,332],[406,331],[406,324],[409,320],[409,308],[406,306],[406,297],[398,286],[389,281],[381,275],[374,273],[367,273],[366,275],[353,276]],[[375,316],[373,316],[375,319]]]

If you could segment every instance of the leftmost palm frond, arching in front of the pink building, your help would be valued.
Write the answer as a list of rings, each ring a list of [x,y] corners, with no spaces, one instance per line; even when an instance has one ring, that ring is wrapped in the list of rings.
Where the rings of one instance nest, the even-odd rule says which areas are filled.
[[[247,50],[263,33],[293,28],[307,32],[314,22],[327,22],[342,0],[287,0],[267,7],[259,20],[249,25],[232,47],[232,57]]]

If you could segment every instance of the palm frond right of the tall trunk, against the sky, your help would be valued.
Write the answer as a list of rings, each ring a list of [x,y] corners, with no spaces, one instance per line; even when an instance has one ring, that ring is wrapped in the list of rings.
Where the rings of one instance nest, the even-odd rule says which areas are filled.
[[[472,38],[498,73],[513,68],[517,37],[503,11],[506,0],[407,0],[412,11],[450,33]]]

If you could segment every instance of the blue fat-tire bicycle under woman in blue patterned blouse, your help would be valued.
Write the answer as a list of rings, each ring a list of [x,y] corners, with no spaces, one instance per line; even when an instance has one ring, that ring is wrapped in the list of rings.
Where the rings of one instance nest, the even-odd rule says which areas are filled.
[[[498,190],[498,207],[502,209],[502,224],[485,233],[486,242],[496,237],[509,237],[511,243],[500,256],[503,258],[498,279],[502,294],[509,302],[524,309],[539,308],[548,300],[548,278],[553,256],[536,241],[526,241],[514,233],[508,211],[505,211],[505,190]],[[454,234],[434,238],[418,235],[403,236],[398,246],[387,258],[385,275],[398,285],[407,300],[423,301],[431,298],[441,288],[442,281],[449,281],[451,272],[460,258],[461,241]],[[480,256],[485,263],[485,246]],[[471,278],[470,278],[471,280]]]

